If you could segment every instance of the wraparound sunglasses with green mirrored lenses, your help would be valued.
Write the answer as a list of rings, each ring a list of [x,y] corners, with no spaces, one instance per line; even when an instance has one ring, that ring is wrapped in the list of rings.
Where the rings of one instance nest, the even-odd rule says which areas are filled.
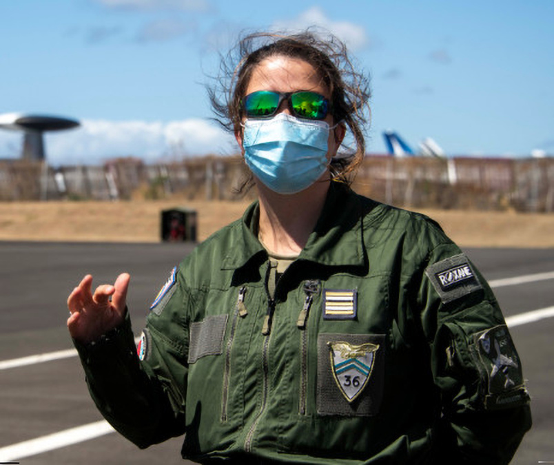
[[[286,100],[291,114],[298,118],[324,119],[329,112],[329,101],[317,92],[274,92],[259,90],[243,99],[246,116],[270,118],[276,114],[281,102]]]

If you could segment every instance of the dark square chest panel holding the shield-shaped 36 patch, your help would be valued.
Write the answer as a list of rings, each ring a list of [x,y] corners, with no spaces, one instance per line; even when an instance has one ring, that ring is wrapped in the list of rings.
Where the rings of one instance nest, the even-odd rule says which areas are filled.
[[[372,416],[382,400],[385,336],[318,335],[319,415]]]

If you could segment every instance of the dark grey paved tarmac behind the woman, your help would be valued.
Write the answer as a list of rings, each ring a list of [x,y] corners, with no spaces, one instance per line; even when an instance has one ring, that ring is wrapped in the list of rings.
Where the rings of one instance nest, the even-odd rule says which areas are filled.
[[[72,349],[65,301],[85,273],[96,284],[132,275],[128,302],[140,333],[170,269],[192,249],[187,244],[81,244],[0,242],[0,368],[6,360]],[[467,249],[493,283],[510,317],[554,307],[554,249]],[[550,275],[547,273],[551,273]],[[528,282],[506,278],[532,275]],[[554,318],[511,329],[533,397],[533,429],[513,464],[554,463]],[[0,369],[0,462],[20,442],[102,420],[74,356]],[[73,430],[72,430],[73,431]],[[76,432],[75,432],[76,434]],[[53,444],[56,437],[47,441]],[[21,464],[183,464],[181,439],[139,451],[115,433],[19,459]],[[38,447],[38,446],[37,446]]]

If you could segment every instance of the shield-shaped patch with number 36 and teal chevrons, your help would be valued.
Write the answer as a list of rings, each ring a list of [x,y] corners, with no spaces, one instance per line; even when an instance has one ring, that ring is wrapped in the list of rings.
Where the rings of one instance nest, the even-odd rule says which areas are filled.
[[[373,371],[378,344],[352,345],[348,342],[327,342],[335,381],[348,402],[353,402],[367,386]]]

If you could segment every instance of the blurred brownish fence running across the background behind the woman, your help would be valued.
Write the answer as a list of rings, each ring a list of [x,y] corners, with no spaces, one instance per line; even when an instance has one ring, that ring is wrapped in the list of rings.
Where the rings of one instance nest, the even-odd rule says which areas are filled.
[[[247,178],[238,156],[145,165],[118,158],[102,166],[0,162],[0,200],[234,200]],[[394,158],[366,156],[353,188],[413,208],[554,211],[554,158]]]

